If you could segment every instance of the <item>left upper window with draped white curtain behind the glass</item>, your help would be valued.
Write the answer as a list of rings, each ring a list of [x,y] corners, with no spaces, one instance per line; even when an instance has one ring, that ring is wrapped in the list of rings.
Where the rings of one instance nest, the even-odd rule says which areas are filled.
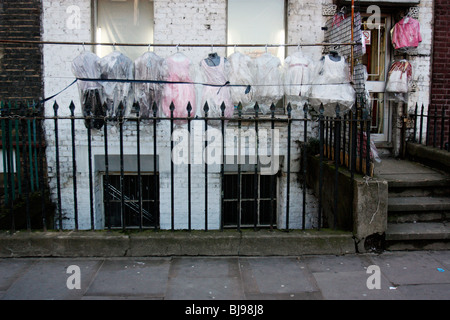
[[[96,0],[96,42],[143,43],[153,42],[153,0]],[[135,60],[147,50],[131,46],[97,46],[100,57],[114,49]]]

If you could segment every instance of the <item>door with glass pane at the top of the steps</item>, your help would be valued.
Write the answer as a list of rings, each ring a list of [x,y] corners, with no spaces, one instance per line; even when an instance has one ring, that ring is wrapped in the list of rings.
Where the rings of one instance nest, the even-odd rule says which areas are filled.
[[[390,62],[389,30],[390,18],[382,16],[380,23],[369,28],[367,17],[363,17],[362,29],[366,43],[363,64],[367,68],[366,89],[370,93],[372,117],[371,137],[375,142],[389,142],[391,139],[391,110],[384,90]]]

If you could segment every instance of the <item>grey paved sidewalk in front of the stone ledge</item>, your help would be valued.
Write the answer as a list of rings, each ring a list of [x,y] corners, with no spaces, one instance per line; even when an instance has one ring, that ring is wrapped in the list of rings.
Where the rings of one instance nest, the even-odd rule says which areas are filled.
[[[76,284],[72,265],[80,268],[80,289],[67,287],[69,278]],[[381,271],[380,289],[367,287],[372,265]],[[0,299],[450,300],[450,251],[0,259]]]

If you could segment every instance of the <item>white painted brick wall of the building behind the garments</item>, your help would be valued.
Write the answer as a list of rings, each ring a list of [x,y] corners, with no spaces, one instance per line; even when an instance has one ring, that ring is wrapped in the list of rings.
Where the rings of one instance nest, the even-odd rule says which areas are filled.
[[[421,55],[414,58],[413,63],[417,65],[416,72],[424,71],[426,77],[423,80],[423,87],[417,95],[425,99],[429,92],[429,50],[427,41],[431,41],[430,26],[427,21],[431,21],[431,0],[421,2],[421,19],[426,21],[422,23],[422,37],[424,48]],[[332,3],[331,0],[323,3]],[[80,28],[70,29],[67,27],[69,14],[66,12],[68,6],[76,5],[80,8]],[[155,43],[226,43],[226,16],[227,4],[225,0],[155,0]],[[44,41],[92,41],[92,22],[91,22],[91,0],[43,0],[43,40]],[[324,25],[326,18],[322,16],[322,2],[312,0],[290,0],[287,8],[287,39],[289,43],[300,42],[322,42]],[[421,22],[423,22],[421,21]],[[322,48],[304,47],[303,51],[311,57],[320,57]],[[44,84],[45,96],[51,96],[63,89],[73,81],[71,71],[71,62],[82,52],[82,47],[77,46],[53,46],[45,45],[44,52]],[[86,46],[86,50],[91,50]],[[291,47],[288,54],[296,50]],[[428,51],[427,51],[428,50]],[[190,57],[194,64],[200,62],[211,48],[180,48]],[[214,48],[219,55],[225,55],[224,48]],[[156,47],[155,52],[162,57],[167,57],[176,52],[176,48]],[[423,55],[423,56],[422,56]],[[414,97],[411,95],[411,98]],[[76,105],[76,115],[81,114],[78,89],[74,85],[56,98],[60,105],[59,115],[70,115],[69,103],[74,101]],[[53,116],[54,100],[46,103],[47,116]],[[263,126],[261,126],[263,127]],[[56,167],[55,167],[55,141],[54,141],[54,123],[47,120],[45,123],[46,137],[48,141],[47,160],[49,166],[50,187],[52,190],[52,199],[56,200]],[[278,190],[278,224],[285,226],[286,212],[286,168],[287,168],[287,128],[280,127],[280,150],[284,155],[283,173],[279,180]],[[291,160],[291,206],[290,206],[290,227],[301,227],[302,215],[302,189],[298,182],[299,175],[299,157],[300,148],[296,140],[301,140],[303,126],[300,124],[292,127],[292,160]],[[141,154],[152,155],[153,153],[153,131],[151,125],[142,124],[141,132]],[[133,124],[125,124],[124,153],[136,153],[136,135]],[[308,128],[309,136],[317,136],[317,128]],[[72,149],[70,121],[59,121],[59,144],[60,144],[60,179],[62,194],[62,211],[67,218],[64,222],[65,228],[73,228],[73,177],[72,177]],[[160,157],[160,225],[162,229],[170,228],[170,139],[168,122],[158,125],[157,141],[158,155]],[[109,154],[119,154],[118,128],[109,127]],[[80,229],[90,228],[90,207],[89,207],[89,173],[87,157],[87,132],[82,121],[77,121],[76,127],[76,153],[77,153],[77,186],[78,186],[78,214]],[[103,130],[101,132],[93,131],[92,135],[92,153],[95,155],[104,154]],[[94,208],[95,208],[95,226],[104,228],[104,212],[102,203],[103,186],[101,176],[94,167]],[[208,211],[209,211],[209,229],[219,227],[220,212],[220,175],[219,166],[210,166],[207,186],[208,189]],[[187,169],[185,165],[175,167],[175,228],[182,229],[187,227]],[[204,192],[203,185],[204,166],[192,166],[192,227],[202,229],[204,227]],[[307,228],[317,226],[317,200],[307,191]]]

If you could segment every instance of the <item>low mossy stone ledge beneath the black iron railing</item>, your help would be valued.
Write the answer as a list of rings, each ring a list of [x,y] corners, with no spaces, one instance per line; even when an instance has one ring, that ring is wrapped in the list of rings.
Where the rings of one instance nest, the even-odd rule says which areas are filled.
[[[290,256],[355,253],[350,232],[193,231],[0,233],[0,258]]]

